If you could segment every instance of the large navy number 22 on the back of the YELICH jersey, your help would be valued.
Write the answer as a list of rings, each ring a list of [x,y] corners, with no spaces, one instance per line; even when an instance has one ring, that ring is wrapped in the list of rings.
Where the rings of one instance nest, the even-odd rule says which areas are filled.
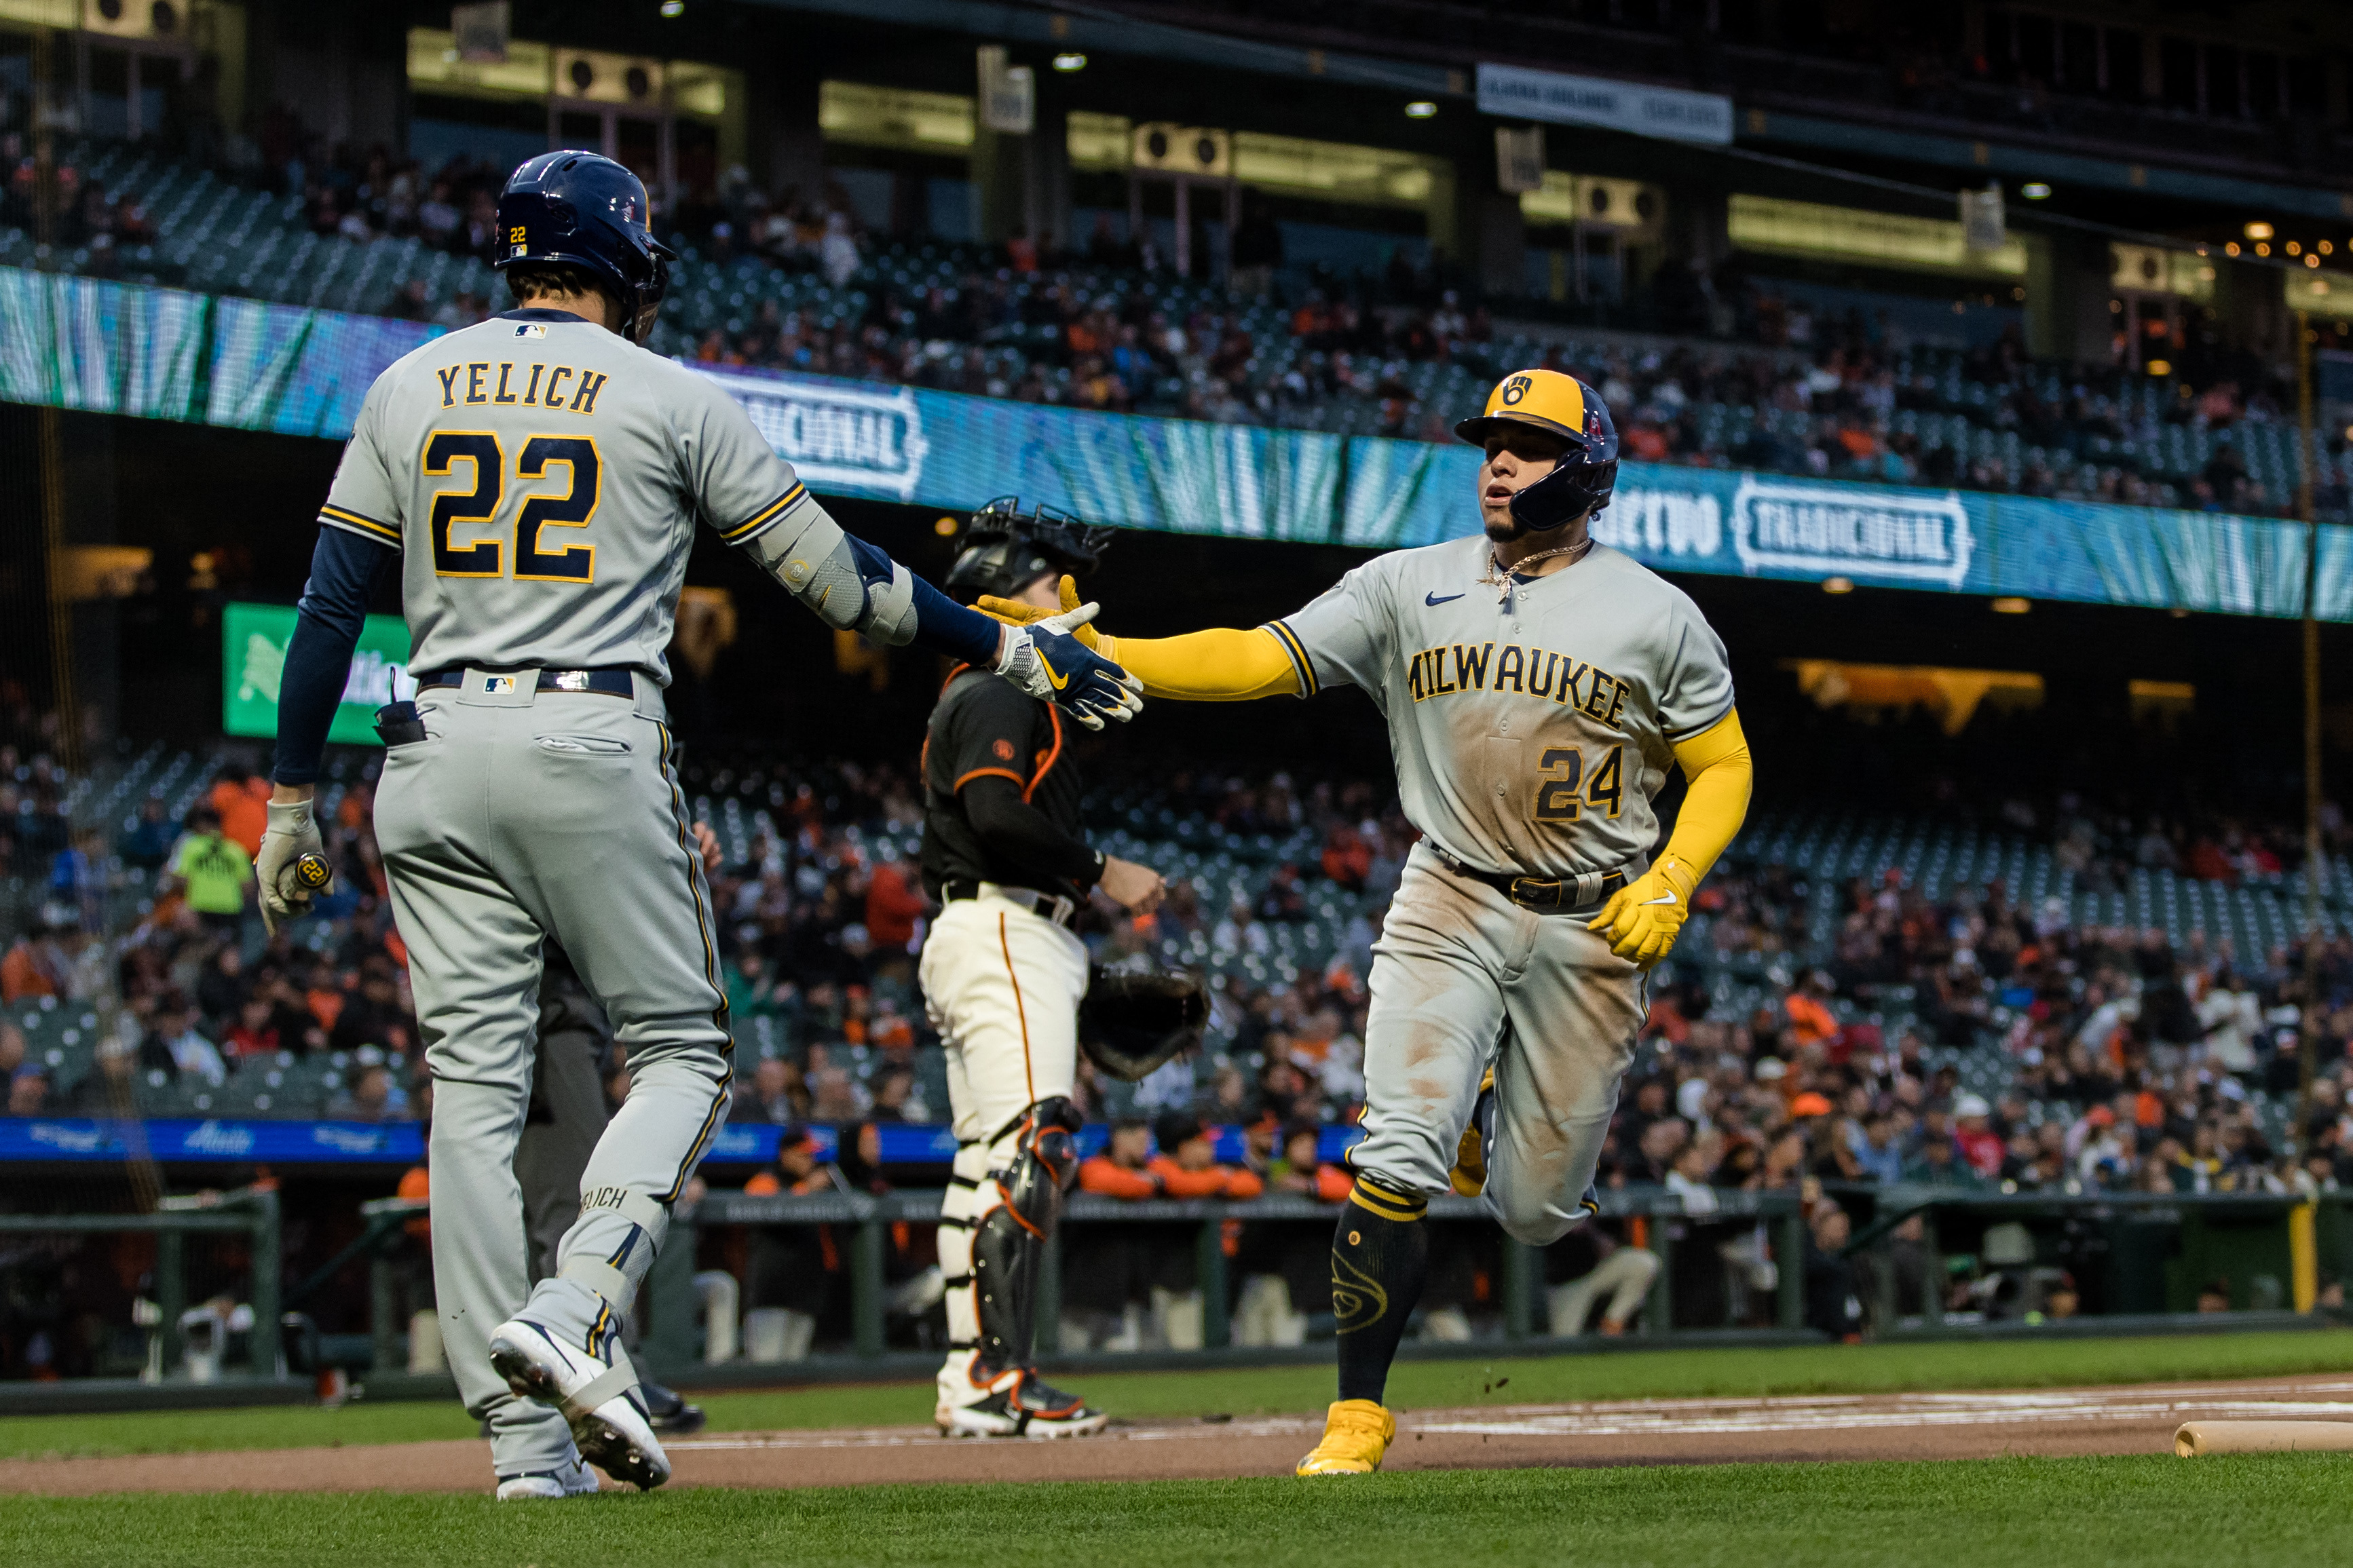
[[[506,501],[506,454],[489,430],[435,430],[426,442],[424,470],[428,477],[449,477],[466,465],[471,489],[442,489],[433,494],[433,571],[438,576],[506,576],[506,541],[473,538],[452,543],[452,529],[475,531],[499,517]],[[544,529],[586,529],[595,517],[602,491],[605,463],[595,442],[586,435],[532,435],[515,458],[518,480],[546,477],[548,468],[562,463],[569,484],[560,496],[525,496],[515,512],[515,581],[518,583],[593,583],[595,545],[565,545],[541,550]]]

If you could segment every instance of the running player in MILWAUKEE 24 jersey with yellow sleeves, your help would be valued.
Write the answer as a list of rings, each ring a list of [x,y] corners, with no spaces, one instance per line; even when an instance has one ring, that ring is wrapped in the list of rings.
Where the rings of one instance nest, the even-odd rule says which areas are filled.
[[[1424,835],[1374,947],[1365,1140],[1332,1237],[1339,1399],[1304,1476],[1377,1469],[1395,1436],[1381,1396],[1433,1194],[1482,1192],[1529,1246],[1593,1211],[1642,976],[1748,809],[1722,644],[1680,590],[1588,531],[1617,480],[1593,390],[1518,371],[1457,433],[1485,449],[1480,538],[1381,555],[1254,630],[1085,632],[1146,696],[1362,686]],[[1689,795],[1649,860],[1671,766]]]

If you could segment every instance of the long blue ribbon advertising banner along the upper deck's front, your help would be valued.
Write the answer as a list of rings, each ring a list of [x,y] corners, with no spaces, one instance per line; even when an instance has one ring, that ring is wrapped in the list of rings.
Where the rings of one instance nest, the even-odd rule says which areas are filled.
[[[0,400],[341,440],[438,327],[0,268]],[[1212,425],[706,369],[821,494],[1393,550],[1478,527],[1464,444]],[[1854,578],[2240,616],[2304,614],[2304,529],[2268,517],[1624,463],[1595,534],[1661,571]],[[2318,611],[2353,621],[2353,529],[2320,531]]]

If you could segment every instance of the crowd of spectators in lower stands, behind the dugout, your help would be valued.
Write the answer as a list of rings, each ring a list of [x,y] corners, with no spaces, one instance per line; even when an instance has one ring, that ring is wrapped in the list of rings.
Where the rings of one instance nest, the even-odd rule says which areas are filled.
[[[42,750],[38,719],[21,705],[16,719],[0,743],[0,858],[35,919],[0,959],[0,999],[12,1013],[42,997],[106,1001],[120,1023],[78,1084],[47,1081],[38,1060],[9,1060],[14,1114],[104,1110],[122,1077],[139,1093],[219,1088],[242,1065],[285,1053],[341,1053],[351,1065],[341,1093],[289,1110],[428,1114],[365,778],[348,778],[327,809],[339,889],[325,919],[268,940],[249,872],[264,825],[259,776],[221,766],[184,823],[167,820],[160,795],[115,823],[78,820],[61,806],[68,778]],[[753,1044],[734,1119],[936,1121],[936,1044],[913,983],[927,912],[908,860],[920,823],[913,780],[896,766],[840,762],[807,773],[746,769],[715,785],[758,809],[713,879],[729,1004]],[[1219,985],[1198,1060],[1139,1086],[1087,1077],[1080,1093],[1096,1121],[1252,1128],[1245,1145],[1264,1175],[1289,1131],[1355,1114],[1365,976],[1412,830],[1386,788],[1365,780],[1176,773],[1144,799],[1202,820],[1212,839],[1308,853],[1259,865],[1233,900],[1176,879],[1153,917],[1092,919],[1101,957],[1205,945]],[[2014,799],[2002,818],[2045,835],[2085,889],[2158,865],[2212,884],[2268,884],[2297,858],[2278,830],[2129,820],[2075,799],[2054,811]],[[2341,839],[2341,823],[2329,830]],[[125,889],[141,893],[134,914],[108,924]],[[1315,959],[1245,969],[1280,952],[1278,926],[1308,919],[1311,891],[1346,900]],[[1807,870],[1737,849],[1701,889],[1654,990],[1649,1051],[1605,1180],[2066,1190],[2353,1180],[2348,1034],[2346,938],[2311,952],[2238,952],[2205,931],[2082,926],[2064,900],[2028,905],[2000,879],[1929,900],[1885,872],[1821,900]],[[2306,1037],[2322,1074],[2299,1168],[2297,1128],[2264,1126],[2257,1100],[2297,1091]],[[1960,1058],[1998,1060],[2005,1081],[1962,1084]],[[118,1060],[125,1070],[108,1072]]]

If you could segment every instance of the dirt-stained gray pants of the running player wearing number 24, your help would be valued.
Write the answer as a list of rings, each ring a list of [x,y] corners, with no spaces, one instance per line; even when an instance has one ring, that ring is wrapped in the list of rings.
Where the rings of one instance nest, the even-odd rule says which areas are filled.
[[[1365,1140],[1348,1164],[1400,1192],[1449,1192],[1492,1065],[1487,1211],[1529,1246],[1586,1218],[1647,1006],[1642,973],[1586,931],[1595,912],[1522,910],[1414,846],[1372,947]]]

